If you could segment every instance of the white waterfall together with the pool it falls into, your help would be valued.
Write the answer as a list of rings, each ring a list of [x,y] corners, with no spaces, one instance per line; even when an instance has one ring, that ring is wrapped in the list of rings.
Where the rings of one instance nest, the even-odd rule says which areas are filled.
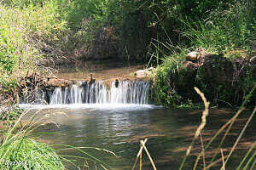
[[[132,91],[136,84],[137,87],[143,88]],[[81,150],[96,156],[113,169],[130,170],[140,147],[139,141],[147,138],[146,147],[156,162],[156,167],[160,170],[178,169],[200,123],[201,111],[147,105],[147,82],[121,82],[119,89],[122,90],[116,88],[114,83],[111,83],[110,88],[106,88],[103,82],[95,83],[93,86],[90,88],[93,90],[88,86],[79,89],[77,85],[69,89],[55,88],[50,96],[50,105],[20,105],[32,109],[27,116],[32,116],[36,112],[37,120],[49,122],[36,131],[41,133],[37,134],[38,140],[53,144],[61,156],[73,156],[67,158],[75,160],[75,164],[82,169],[85,161],[79,156],[85,156],[87,159],[88,156],[75,149],[63,150],[68,148],[67,145],[82,147]],[[212,110],[207,118],[207,127],[202,133],[202,138],[209,141],[213,133],[233,115],[234,111]],[[225,155],[235,143],[239,130],[246,120],[246,116],[243,116],[234,125],[228,142],[224,145]],[[255,141],[253,126],[248,127],[244,136],[246,139],[242,140],[238,147],[240,151],[230,159],[226,169],[233,169],[241,161],[241,155],[248,149],[250,141]],[[219,142],[219,139],[217,141]],[[95,148],[111,150],[116,156]],[[185,169],[191,169],[195,156],[200,151],[201,142],[197,140],[192,156],[186,161]],[[209,151],[212,156],[212,150]],[[66,161],[64,163],[68,169],[79,169]],[[89,166],[90,169],[103,169],[90,161]],[[201,169],[201,162],[199,167]],[[143,152],[143,170],[149,169],[153,168]]]

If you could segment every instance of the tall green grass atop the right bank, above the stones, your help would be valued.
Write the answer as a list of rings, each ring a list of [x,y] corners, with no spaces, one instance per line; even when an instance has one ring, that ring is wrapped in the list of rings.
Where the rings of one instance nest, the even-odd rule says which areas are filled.
[[[184,36],[189,37],[192,47],[202,47],[216,53],[227,53],[236,48],[248,51],[250,42],[255,38],[256,20],[253,11],[244,1],[230,3],[224,9],[220,3],[211,10],[206,20],[185,20],[187,29]]]

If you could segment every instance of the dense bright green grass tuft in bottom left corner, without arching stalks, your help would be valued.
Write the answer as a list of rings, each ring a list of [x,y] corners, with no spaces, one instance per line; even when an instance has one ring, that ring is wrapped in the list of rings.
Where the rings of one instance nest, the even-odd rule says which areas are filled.
[[[49,145],[29,139],[28,129],[14,126],[1,130],[0,168],[9,169],[64,169],[59,156]]]

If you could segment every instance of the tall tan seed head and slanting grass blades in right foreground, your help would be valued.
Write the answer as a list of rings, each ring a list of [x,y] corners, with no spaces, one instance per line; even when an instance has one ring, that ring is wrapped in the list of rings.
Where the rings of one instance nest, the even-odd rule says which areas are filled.
[[[202,162],[203,162],[202,166],[203,166],[204,170],[210,169],[210,168],[212,168],[213,166],[216,166],[216,165],[221,165],[220,170],[225,169],[227,162],[231,159],[231,156],[232,156],[233,152],[236,150],[237,144],[240,142],[241,137],[244,134],[245,130],[247,129],[248,124],[250,122],[252,122],[253,116],[256,113],[256,107],[255,106],[254,106],[254,109],[253,109],[252,113],[248,117],[246,124],[241,128],[241,133],[239,133],[239,135],[237,136],[236,142],[233,144],[232,148],[230,149],[228,154],[226,154],[226,156],[224,156],[223,150],[221,148],[223,147],[224,140],[226,139],[227,135],[230,133],[230,129],[232,128],[234,122],[236,122],[237,117],[245,110],[244,105],[247,103],[248,99],[252,97],[252,94],[253,94],[253,91],[255,90],[255,88],[256,88],[256,86],[254,86],[253,89],[251,90],[250,94],[247,95],[247,98],[242,103],[241,108],[239,109],[239,111],[237,111],[236,114],[228,122],[224,123],[224,125],[218,129],[218,132],[214,134],[212,139],[210,139],[210,141],[208,141],[207,144],[203,144],[203,140],[202,140],[202,136],[201,136],[201,130],[207,124],[207,115],[209,113],[210,103],[207,101],[204,94],[202,94],[201,91],[198,88],[195,88],[196,92],[198,94],[200,94],[201,99],[204,102],[205,111],[202,112],[201,125],[197,128],[197,130],[195,132],[194,139],[191,142],[191,144],[189,144],[189,148],[186,151],[186,155],[183,158],[183,161],[182,161],[182,163],[179,167],[179,170],[183,169],[184,163],[185,163],[187,157],[190,155],[190,151],[191,151],[193,145],[195,144],[195,139],[197,139],[199,136],[201,136],[201,147],[202,147],[202,149],[201,149],[201,152],[198,154],[198,156],[195,159],[195,163],[193,165],[193,170],[198,169],[199,161],[201,159],[202,159]],[[214,142],[214,140],[217,139],[218,136],[220,136],[221,133],[224,133],[224,136],[220,140],[220,142],[218,144],[218,147],[216,149],[215,148],[213,149],[213,155],[210,157],[210,160],[206,161],[206,157],[205,157],[206,156],[206,151],[209,149],[209,147]],[[253,144],[250,145],[250,148],[249,148],[249,150],[247,150],[247,153],[244,156],[241,157],[241,161],[240,161],[240,164],[238,165],[238,167],[234,167],[234,169],[236,168],[236,170],[240,170],[240,169],[242,169],[242,170],[252,170],[255,167],[256,152],[255,151],[253,152],[253,149],[255,147],[256,147],[256,141],[253,141]],[[221,154],[221,158],[218,158],[218,154]]]

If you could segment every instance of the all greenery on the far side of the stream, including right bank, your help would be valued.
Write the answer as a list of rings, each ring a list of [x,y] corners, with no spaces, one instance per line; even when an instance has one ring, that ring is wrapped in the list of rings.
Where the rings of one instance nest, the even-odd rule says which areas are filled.
[[[253,86],[248,60],[254,54],[254,1],[4,0],[0,4],[5,87],[0,94],[15,96],[20,75],[45,72],[44,65],[108,58],[160,65],[155,101],[165,105],[195,103],[193,86],[211,101],[238,104]],[[207,77],[204,68],[196,74],[187,71],[184,56],[195,48],[229,59],[236,70],[232,80],[216,82],[218,78]],[[211,71],[223,69],[219,59],[212,62]],[[236,59],[243,59],[242,64],[236,66]]]

